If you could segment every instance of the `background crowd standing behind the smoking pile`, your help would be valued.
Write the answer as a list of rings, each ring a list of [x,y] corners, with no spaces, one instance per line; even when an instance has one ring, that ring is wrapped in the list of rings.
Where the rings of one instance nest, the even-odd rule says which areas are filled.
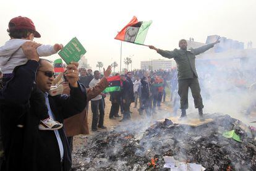
[[[102,75],[98,70],[83,69],[80,72],[80,83],[90,88],[98,81]],[[92,74],[94,73],[94,74]],[[157,111],[161,111],[161,103],[166,101],[166,95],[176,106],[174,113],[179,108],[179,98],[177,98],[177,70],[133,70],[124,74],[113,73],[111,76],[119,75],[121,90],[110,92],[109,101],[111,109],[109,119],[116,119],[123,115],[120,122],[130,120],[130,106],[134,102],[134,108],[138,108],[139,114],[145,111],[147,117],[152,117]],[[168,92],[166,92],[168,91]],[[96,131],[96,123],[99,128],[106,128],[103,125],[105,115],[105,93],[99,94],[96,99],[91,100],[92,107],[92,131]],[[139,104],[139,105],[138,105]],[[120,112],[119,112],[120,111]]]

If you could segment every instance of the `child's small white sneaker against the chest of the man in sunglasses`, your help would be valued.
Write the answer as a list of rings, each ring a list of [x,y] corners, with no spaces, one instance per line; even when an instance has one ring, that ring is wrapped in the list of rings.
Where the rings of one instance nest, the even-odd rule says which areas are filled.
[[[40,120],[40,124],[38,125],[39,130],[59,130],[62,128],[62,123],[59,123],[49,117],[46,120]]]

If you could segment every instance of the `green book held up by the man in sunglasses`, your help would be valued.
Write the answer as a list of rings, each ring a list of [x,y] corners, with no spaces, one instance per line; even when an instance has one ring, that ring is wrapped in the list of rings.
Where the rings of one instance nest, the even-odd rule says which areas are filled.
[[[83,45],[77,40],[77,38],[72,38],[69,43],[64,46],[61,51],[59,51],[59,56],[66,62],[67,65],[70,62],[79,62],[80,58],[85,54],[86,50]]]

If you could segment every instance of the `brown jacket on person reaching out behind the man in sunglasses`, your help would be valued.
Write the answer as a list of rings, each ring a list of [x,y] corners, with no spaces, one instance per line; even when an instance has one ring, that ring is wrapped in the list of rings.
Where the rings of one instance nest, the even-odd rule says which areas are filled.
[[[105,88],[108,86],[108,81],[106,78],[101,78],[100,83],[98,83],[93,88],[87,88],[87,101],[95,98],[100,94]],[[64,86],[63,94],[69,94],[69,87]],[[85,104],[87,102],[85,101]],[[83,109],[77,115],[69,117],[64,120],[64,127],[66,130],[67,136],[75,136],[79,134],[88,135],[89,134],[89,127],[88,127],[88,117],[87,112]]]

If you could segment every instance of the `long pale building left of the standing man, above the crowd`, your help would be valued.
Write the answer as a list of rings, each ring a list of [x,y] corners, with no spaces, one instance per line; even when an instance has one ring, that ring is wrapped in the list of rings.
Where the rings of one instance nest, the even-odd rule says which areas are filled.
[[[140,61],[140,69],[144,70],[158,70],[158,69],[172,69],[176,67],[176,63],[173,59],[154,59],[154,60],[144,60]]]

